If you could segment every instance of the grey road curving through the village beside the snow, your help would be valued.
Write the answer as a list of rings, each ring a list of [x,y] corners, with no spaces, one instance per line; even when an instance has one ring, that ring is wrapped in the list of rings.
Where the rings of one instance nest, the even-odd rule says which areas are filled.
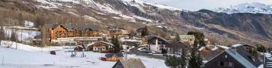
[[[149,57],[149,58],[155,58],[155,59],[161,59],[161,60],[166,60],[166,56],[161,56],[161,55],[152,55],[152,54],[148,54],[146,52],[142,52],[142,51],[138,51],[137,49],[141,48],[141,47],[146,47],[146,46],[140,46],[140,47],[135,47],[130,49],[130,52],[128,52],[128,54],[136,54],[138,53],[141,56],[145,56],[145,57]]]

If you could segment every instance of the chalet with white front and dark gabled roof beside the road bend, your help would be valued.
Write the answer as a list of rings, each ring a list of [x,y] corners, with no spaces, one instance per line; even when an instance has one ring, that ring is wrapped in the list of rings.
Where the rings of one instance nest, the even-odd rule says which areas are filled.
[[[166,49],[170,52],[170,42],[160,36],[150,36],[148,37],[148,50],[162,52],[162,49]]]

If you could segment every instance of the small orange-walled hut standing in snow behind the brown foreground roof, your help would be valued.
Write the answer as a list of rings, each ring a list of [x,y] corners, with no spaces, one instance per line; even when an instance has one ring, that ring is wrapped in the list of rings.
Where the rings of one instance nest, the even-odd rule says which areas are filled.
[[[118,61],[123,59],[124,55],[123,53],[108,53],[105,55],[106,56],[106,61]]]

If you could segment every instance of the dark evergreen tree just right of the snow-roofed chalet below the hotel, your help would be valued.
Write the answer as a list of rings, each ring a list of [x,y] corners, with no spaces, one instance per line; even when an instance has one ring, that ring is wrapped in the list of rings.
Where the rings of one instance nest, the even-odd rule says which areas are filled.
[[[121,51],[119,39],[117,37],[115,37],[114,35],[111,37],[111,43],[114,45],[113,48],[114,48],[115,52],[120,52]]]

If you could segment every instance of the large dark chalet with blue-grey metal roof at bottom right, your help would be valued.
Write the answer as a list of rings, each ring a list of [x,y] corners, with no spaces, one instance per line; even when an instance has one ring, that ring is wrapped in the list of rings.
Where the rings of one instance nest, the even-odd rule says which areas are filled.
[[[201,68],[259,68],[262,62],[246,51],[242,45],[233,45],[213,57]]]

